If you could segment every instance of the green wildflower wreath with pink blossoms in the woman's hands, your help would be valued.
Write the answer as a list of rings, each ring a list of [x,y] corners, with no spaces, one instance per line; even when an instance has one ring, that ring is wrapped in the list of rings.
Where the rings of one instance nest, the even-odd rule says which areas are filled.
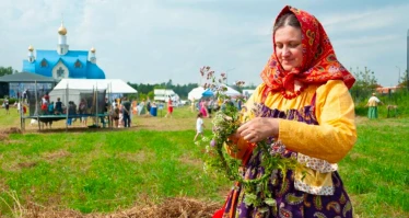
[[[295,169],[297,162],[294,158],[283,158],[283,151],[277,151],[273,148],[273,139],[267,138],[264,141],[254,144],[254,153],[261,152],[261,167],[264,168],[264,174],[257,179],[248,180],[244,179],[245,170],[242,160],[234,159],[234,153],[239,152],[237,145],[231,140],[231,136],[236,133],[237,128],[242,123],[246,122],[248,117],[244,112],[231,102],[231,97],[225,94],[226,87],[224,82],[226,74],[221,73],[221,78],[218,79],[214,71],[210,67],[206,66],[200,68],[201,77],[204,78],[204,89],[210,89],[215,93],[219,102],[222,105],[219,111],[215,112],[212,119],[212,136],[203,137],[199,145],[204,145],[204,171],[218,172],[226,176],[231,181],[238,181],[246,193],[244,203],[246,205],[253,205],[255,207],[274,206],[276,200],[273,193],[268,191],[268,184],[270,180],[277,180],[272,176],[273,172],[281,170],[282,176],[285,179],[287,171],[289,169]],[[237,87],[244,85],[243,81],[236,82]],[[244,99],[241,99],[244,102]],[[262,108],[260,105],[253,106],[252,113],[255,116],[262,116]],[[230,154],[226,150],[230,150]],[[233,157],[232,157],[233,153]],[[273,181],[272,181],[273,182]]]

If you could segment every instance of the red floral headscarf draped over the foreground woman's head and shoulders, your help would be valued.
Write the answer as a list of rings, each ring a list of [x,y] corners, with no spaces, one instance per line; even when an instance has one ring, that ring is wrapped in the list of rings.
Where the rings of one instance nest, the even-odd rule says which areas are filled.
[[[300,68],[285,72],[277,58],[276,50],[261,71],[261,79],[270,91],[294,90],[294,80],[304,84],[323,84],[328,80],[342,80],[348,89],[355,82],[353,76],[337,60],[334,48],[323,25],[309,13],[284,7],[278,19],[285,13],[293,13],[301,24],[303,61]],[[276,48],[276,39],[273,45]]]

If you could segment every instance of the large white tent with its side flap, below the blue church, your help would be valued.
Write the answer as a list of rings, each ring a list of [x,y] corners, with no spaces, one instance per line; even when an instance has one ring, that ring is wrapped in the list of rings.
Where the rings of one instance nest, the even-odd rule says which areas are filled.
[[[103,91],[113,94],[138,93],[137,90],[120,79],[62,79],[49,93],[50,101],[61,99],[66,103],[68,100],[75,104],[80,102],[80,93],[92,93],[94,90]]]

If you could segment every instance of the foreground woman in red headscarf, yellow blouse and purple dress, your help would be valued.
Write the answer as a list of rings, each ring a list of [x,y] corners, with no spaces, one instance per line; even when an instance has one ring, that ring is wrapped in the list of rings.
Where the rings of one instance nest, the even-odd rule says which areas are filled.
[[[289,170],[285,179],[272,172],[279,180],[270,180],[268,192],[277,206],[264,210],[246,205],[246,191],[236,184],[214,217],[352,217],[336,163],[357,140],[348,92],[354,78],[337,60],[322,24],[307,12],[284,7],[272,36],[274,51],[261,72],[262,83],[246,104],[256,117],[232,136],[245,151],[236,157],[243,160],[245,179],[260,176],[262,153],[253,152],[252,144],[269,138],[274,141],[271,152],[296,158],[305,168]]]

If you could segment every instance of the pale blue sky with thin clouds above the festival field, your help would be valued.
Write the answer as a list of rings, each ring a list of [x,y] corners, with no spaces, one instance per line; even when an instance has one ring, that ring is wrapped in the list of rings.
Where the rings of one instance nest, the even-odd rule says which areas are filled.
[[[195,83],[206,65],[229,70],[229,83],[258,84],[285,4],[323,23],[348,69],[366,66],[384,87],[404,74],[407,0],[2,0],[0,66],[21,70],[30,45],[55,49],[63,14],[70,49],[94,46],[107,78]]]

